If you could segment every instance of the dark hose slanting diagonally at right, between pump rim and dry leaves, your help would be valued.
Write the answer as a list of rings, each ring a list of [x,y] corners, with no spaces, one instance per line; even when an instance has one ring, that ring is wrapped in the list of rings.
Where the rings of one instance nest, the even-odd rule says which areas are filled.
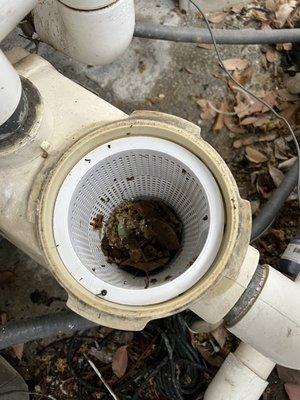
[[[290,168],[281,185],[274,191],[259,215],[253,220],[251,243],[257,240],[272,224],[278,211],[294,190],[298,181],[298,162]]]

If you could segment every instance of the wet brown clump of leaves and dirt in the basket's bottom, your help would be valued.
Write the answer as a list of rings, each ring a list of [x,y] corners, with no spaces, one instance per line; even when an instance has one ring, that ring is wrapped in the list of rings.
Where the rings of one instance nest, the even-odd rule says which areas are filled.
[[[162,201],[125,201],[110,215],[101,249],[108,262],[135,274],[166,266],[181,247],[182,222]]]

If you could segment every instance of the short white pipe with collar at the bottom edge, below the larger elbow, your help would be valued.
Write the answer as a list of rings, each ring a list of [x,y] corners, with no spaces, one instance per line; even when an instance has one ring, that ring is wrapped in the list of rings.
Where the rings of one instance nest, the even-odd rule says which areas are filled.
[[[210,383],[204,400],[258,400],[275,363],[242,343],[230,353]]]

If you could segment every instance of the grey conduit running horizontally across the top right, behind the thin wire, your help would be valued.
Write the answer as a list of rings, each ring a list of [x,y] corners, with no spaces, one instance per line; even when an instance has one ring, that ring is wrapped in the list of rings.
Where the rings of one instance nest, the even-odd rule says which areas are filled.
[[[274,44],[300,43],[300,29],[214,29],[219,44]],[[206,28],[157,25],[137,22],[134,36],[145,39],[170,40],[184,43],[212,43]]]

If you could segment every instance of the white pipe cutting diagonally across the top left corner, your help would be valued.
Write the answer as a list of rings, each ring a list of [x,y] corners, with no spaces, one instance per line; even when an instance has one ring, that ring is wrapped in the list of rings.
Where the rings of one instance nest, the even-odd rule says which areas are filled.
[[[37,0],[0,0],[0,41],[34,8]]]

